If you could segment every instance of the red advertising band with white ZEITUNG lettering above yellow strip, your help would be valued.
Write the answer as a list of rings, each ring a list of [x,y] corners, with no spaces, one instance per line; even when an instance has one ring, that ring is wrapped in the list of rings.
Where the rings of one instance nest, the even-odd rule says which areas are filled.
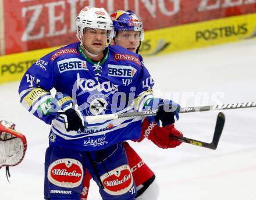
[[[1,2],[1,1],[0,1]],[[5,54],[56,47],[77,41],[74,17],[88,1],[2,1]],[[111,13],[117,9],[134,10],[144,23],[144,30],[155,30],[182,24],[204,22],[223,17],[246,15],[256,11],[255,1],[90,1],[91,6],[104,7]],[[58,12],[56,11],[58,10]],[[0,10],[1,11],[1,10]],[[0,12],[1,13],[1,12]],[[1,20],[1,19],[0,19]],[[2,23],[3,24],[3,23]],[[17,30],[16,27],[19,27]],[[13,37],[15,33],[16,37]]]

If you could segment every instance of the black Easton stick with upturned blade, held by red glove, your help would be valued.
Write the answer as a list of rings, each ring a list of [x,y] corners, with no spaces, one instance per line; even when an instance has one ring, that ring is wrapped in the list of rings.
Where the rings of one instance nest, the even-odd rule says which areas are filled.
[[[209,148],[209,149],[216,149],[219,143],[219,138],[221,138],[221,133],[223,130],[225,124],[225,116],[222,112],[219,112],[217,120],[216,120],[216,125],[215,125],[215,131],[214,131],[214,137],[212,139],[211,143],[207,143],[207,142],[202,142],[202,141],[198,141],[198,140],[193,140],[190,138],[186,138],[186,137],[177,137],[175,135],[169,135],[170,138],[175,139],[175,140],[179,140],[181,142],[186,142],[189,144],[193,144],[199,147],[205,147],[205,148]]]

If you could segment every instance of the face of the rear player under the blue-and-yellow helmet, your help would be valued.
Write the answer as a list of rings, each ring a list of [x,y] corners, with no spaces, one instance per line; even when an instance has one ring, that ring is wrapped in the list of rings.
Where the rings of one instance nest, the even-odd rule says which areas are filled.
[[[140,31],[118,31],[115,44],[136,53],[140,44]]]

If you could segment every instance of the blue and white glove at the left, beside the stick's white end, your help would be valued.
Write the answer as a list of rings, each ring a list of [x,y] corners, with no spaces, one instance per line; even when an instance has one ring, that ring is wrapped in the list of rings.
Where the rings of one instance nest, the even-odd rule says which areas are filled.
[[[52,115],[60,116],[65,123],[67,131],[84,131],[87,123],[83,112],[79,106],[73,102],[73,99],[66,94],[57,92],[52,103]]]

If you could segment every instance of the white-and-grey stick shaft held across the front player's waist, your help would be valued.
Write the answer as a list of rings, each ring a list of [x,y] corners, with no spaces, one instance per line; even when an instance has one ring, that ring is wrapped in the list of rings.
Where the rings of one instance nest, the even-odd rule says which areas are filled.
[[[248,102],[248,103],[226,103],[223,105],[211,105],[211,106],[195,106],[195,107],[186,107],[180,108],[179,113],[190,113],[190,112],[203,112],[203,111],[211,111],[211,110],[229,110],[229,109],[237,109],[237,108],[253,108],[256,107],[256,102]],[[123,117],[147,117],[147,116],[155,116],[157,115],[157,110],[144,111],[144,112],[127,112],[127,113],[114,113],[108,115],[95,115],[95,116],[87,116],[87,123],[95,123],[97,120],[113,120],[119,119]]]

